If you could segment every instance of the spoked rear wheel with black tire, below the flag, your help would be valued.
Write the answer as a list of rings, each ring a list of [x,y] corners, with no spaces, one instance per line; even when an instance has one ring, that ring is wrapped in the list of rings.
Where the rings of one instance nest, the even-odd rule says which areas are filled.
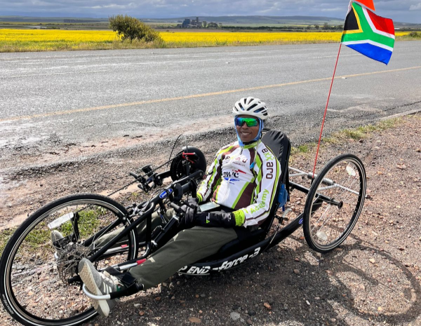
[[[329,252],[345,241],[361,214],[366,170],[353,154],[330,160],[316,176],[305,202],[303,230],[309,247]]]

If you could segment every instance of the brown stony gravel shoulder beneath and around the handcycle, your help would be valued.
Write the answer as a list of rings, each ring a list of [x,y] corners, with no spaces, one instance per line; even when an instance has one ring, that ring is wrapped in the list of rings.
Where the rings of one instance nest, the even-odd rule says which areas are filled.
[[[370,198],[351,236],[337,250],[316,254],[298,230],[238,269],[211,277],[173,276],[122,300],[109,318],[91,324],[420,326],[420,136],[418,114],[402,118],[393,128],[361,139],[342,138],[321,149],[318,169],[333,156],[349,152],[363,159],[368,176]],[[210,158],[229,137],[222,132],[218,141],[203,137],[194,145]],[[160,148],[171,150],[169,144]],[[116,189],[130,182],[123,177],[128,170],[154,152],[152,145],[135,156],[122,149],[96,162],[70,161],[48,170],[22,171],[1,189],[1,200],[8,204],[1,207],[0,229],[19,224],[32,209],[66,193]],[[314,149],[309,148],[295,154],[290,165],[310,170],[313,159]],[[11,184],[13,191],[7,188]],[[117,198],[128,204],[136,196],[131,188]],[[304,201],[292,194],[290,220]],[[0,324],[15,325],[3,308]]]

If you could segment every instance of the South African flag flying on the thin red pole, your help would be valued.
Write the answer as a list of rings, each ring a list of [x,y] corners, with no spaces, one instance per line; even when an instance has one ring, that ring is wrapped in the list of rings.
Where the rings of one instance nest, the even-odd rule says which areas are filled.
[[[389,63],[394,47],[394,25],[351,1],[341,42],[371,59]]]

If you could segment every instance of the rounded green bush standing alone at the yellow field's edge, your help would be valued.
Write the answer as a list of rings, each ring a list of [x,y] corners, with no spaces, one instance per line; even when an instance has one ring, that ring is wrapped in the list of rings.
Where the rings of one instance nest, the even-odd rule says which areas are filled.
[[[109,28],[117,32],[121,40],[152,42],[161,41],[159,32],[155,29],[141,22],[137,18],[128,15],[116,15],[109,18]]]

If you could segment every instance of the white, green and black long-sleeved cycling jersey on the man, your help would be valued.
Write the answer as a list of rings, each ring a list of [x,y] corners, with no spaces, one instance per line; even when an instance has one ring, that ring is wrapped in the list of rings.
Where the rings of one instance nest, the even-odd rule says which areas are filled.
[[[237,141],[218,151],[198,198],[234,209],[237,226],[260,225],[274,203],[280,175],[278,159],[261,140],[243,147]]]

